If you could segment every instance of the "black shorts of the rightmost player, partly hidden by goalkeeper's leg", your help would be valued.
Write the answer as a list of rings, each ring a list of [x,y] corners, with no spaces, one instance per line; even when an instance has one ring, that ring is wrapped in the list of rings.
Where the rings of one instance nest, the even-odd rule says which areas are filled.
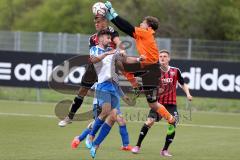
[[[177,111],[177,105],[175,104],[164,104],[163,105],[167,111],[175,116],[175,118],[177,118],[177,121],[179,120],[179,115],[178,115],[178,111]],[[150,110],[148,113],[148,118],[154,118],[155,122],[159,122],[162,119],[162,116],[158,115],[158,113],[154,110]]]

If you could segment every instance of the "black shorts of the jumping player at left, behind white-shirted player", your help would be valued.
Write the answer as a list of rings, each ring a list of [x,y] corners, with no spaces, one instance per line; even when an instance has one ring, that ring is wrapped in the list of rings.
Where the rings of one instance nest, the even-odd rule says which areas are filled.
[[[82,77],[81,86],[90,89],[95,82],[97,82],[97,73],[94,65],[93,63],[87,64],[86,72]]]

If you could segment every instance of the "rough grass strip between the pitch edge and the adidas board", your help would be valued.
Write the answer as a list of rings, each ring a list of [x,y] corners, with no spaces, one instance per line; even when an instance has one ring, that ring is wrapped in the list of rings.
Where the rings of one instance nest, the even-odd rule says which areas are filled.
[[[75,95],[66,95],[58,93],[51,89],[40,89],[39,99],[35,88],[18,88],[0,86],[0,100],[18,100],[18,101],[40,101],[40,102],[58,102],[63,99],[72,100]],[[240,113],[240,99],[220,99],[220,98],[202,98],[193,95],[194,99],[191,106],[197,111],[214,111],[214,112],[233,112]],[[145,108],[145,98],[143,102],[137,104],[138,107]],[[186,98],[177,97],[178,107],[185,108]],[[85,103],[91,104],[92,99],[85,98]]]

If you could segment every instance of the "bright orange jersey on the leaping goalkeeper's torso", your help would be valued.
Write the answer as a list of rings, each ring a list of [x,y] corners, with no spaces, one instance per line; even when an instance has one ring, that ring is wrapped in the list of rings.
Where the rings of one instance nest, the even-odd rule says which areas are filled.
[[[159,52],[156,40],[154,38],[155,31],[151,28],[143,29],[135,27],[133,37],[136,40],[136,47],[140,56],[145,57],[143,65],[154,64],[159,60]]]

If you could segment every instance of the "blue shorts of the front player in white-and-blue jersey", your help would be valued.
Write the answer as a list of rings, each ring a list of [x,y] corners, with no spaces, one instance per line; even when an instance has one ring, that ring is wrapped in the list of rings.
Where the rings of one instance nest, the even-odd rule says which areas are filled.
[[[96,89],[96,98],[99,106],[109,103],[113,108],[120,108],[119,86],[112,81],[99,83]]]

